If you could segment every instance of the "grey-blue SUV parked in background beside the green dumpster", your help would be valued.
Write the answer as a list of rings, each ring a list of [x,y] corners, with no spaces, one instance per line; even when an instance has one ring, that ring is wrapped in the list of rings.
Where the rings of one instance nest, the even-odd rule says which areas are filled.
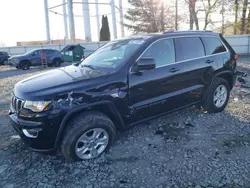
[[[63,63],[63,55],[58,50],[36,49],[23,55],[12,56],[9,58],[9,65],[23,70],[27,70],[31,66],[40,66],[42,64],[41,54],[45,54],[48,66],[60,67]]]

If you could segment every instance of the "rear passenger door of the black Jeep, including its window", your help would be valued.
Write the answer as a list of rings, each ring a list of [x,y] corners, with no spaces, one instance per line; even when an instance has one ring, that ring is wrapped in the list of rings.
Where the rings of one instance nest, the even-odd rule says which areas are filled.
[[[174,98],[179,101],[176,107],[202,100],[205,89],[217,69],[217,61],[208,56],[200,36],[175,38],[177,65],[180,67],[178,85]]]

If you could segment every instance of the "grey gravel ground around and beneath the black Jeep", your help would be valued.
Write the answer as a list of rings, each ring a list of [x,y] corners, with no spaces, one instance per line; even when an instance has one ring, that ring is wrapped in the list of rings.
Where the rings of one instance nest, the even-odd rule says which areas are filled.
[[[250,187],[249,89],[235,88],[222,113],[178,111],[119,133],[96,160],[67,162],[27,150],[8,125],[11,88],[37,70],[0,71],[0,187]]]

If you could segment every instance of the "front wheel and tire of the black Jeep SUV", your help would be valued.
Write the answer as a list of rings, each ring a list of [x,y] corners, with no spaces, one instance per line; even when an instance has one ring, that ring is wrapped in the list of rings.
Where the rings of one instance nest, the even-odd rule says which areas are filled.
[[[96,130],[104,130],[106,132],[103,134],[103,137],[101,138],[96,138],[94,136],[94,131]],[[98,132],[96,131],[96,132]],[[93,135],[91,135],[93,132]],[[90,134],[90,137],[89,135]],[[88,136],[87,136],[88,135]],[[97,134],[98,135],[98,134]],[[106,136],[105,136],[106,135]],[[78,160],[88,160],[88,159],[93,159],[98,156],[100,156],[103,152],[105,152],[113,143],[114,138],[116,135],[116,130],[113,122],[104,114],[100,112],[86,112],[78,115],[76,118],[74,118],[72,121],[69,122],[69,124],[66,127],[66,130],[63,134],[63,138],[60,144],[60,149],[63,154],[63,156],[68,159],[68,160],[73,160],[73,161],[78,161]],[[102,136],[99,134],[98,137]],[[95,137],[97,141],[90,141],[89,138]],[[88,138],[87,142],[84,141],[79,141],[81,138],[85,139]],[[108,138],[106,140],[106,138]],[[105,139],[105,147],[100,146],[99,147],[99,142],[98,139]],[[88,142],[93,142],[93,143],[88,143]],[[95,143],[97,142],[97,143]],[[91,146],[91,144],[95,146]],[[90,149],[88,148],[98,148],[96,151],[100,150],[100,153],[98,152],[98,155],[89,158],[89,155],[91,154]],[[83,150],[85,151],[84,154],[80,156],[79,152],[77,150]],[[95,150],[95,149],[93,149]],[[82,152],[83,153],[83,152]]]

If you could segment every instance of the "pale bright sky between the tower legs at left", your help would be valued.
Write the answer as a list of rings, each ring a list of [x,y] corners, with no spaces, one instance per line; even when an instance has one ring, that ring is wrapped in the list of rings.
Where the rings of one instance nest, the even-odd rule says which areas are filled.
[[[81,2],[82,0],[78,0]],[[109,0],[99,0],[109,2]],[[76,2],[76,1],[75,1]],[[89,0],[94,2],[94,0]],[[118,6],[118,0],[115,0]],[[0,0],[0,41],[7,46],[16,45],[17,41],[46,40],[44,0]],[[48,0],[49,7],[59,5],[62,0]],[[123,0],[124,10],[128,7],[127,0]],[[100,5],[100,17],[108,14],[110,30],[112,35],[111,8],[108,5]],[[62,7],[53,9],[62,13]],[[120,36],[119,11],[116,9],[116,20],[118,37]],[[74,14],[82,15],[82,5],[74,5]],[[92,40],[97,41],[95,5],[90,5]],[[51,39],[64,38],[63,17],[54,13],[49,13]],[[101,19],[100,19],[101,21]],[[84,39],[84,24],[82,17],[75,17],[76,38]],[[125,30],[126,34],[128,31]]]

